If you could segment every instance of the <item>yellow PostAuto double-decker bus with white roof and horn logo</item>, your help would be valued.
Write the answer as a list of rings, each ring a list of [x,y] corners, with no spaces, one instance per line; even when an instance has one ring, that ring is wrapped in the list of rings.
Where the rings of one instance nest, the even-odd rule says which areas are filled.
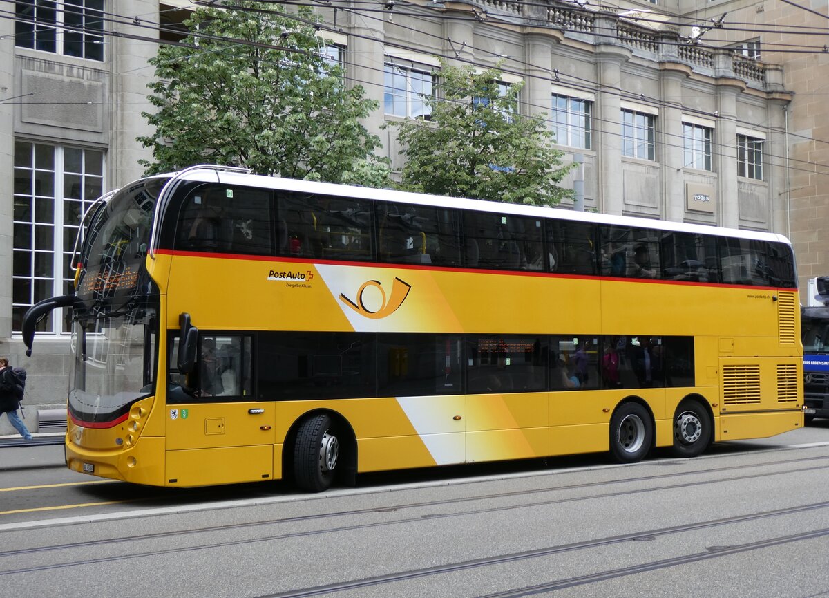
[[[782,236],[200,166],[109,194],[70,310],[70,469],[138,484],[713,441],[803,423]],[[58,313],[56,312],[56,316]]]

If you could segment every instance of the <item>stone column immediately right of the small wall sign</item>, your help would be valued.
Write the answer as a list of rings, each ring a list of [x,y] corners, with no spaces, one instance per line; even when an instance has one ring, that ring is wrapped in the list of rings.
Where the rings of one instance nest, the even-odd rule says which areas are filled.
[[[744,89],[740,80],[718,82],[717,128],[712,149],[714,170],[718,177],[720,226],[739,227],[739,186],[737,184],[737,95]]]

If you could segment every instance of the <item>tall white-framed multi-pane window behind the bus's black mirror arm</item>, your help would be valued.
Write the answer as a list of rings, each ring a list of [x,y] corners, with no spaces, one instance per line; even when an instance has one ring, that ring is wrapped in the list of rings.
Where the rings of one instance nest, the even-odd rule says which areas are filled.
[[[104,153],[17,141],[14,144],[12,329],[41,299],[74,292],[70,260],[80,221],[100,197]],[[38,332],[69,332],[44,318]]]

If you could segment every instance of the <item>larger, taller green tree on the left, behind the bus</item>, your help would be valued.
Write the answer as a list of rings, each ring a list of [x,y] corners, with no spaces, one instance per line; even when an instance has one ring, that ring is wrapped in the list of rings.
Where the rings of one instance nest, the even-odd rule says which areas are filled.
[[[347,88],[342,66],[322,56],[318,17],[293,17],[262,2],[198,8],[185,24],[196,35],[161,46],[148,85],[158,109],[143,113],[155,136],[147,173],[197,163],[244,166],[259,174],[328,182],[389,184],[380,139],[360,123],[374,100]]]

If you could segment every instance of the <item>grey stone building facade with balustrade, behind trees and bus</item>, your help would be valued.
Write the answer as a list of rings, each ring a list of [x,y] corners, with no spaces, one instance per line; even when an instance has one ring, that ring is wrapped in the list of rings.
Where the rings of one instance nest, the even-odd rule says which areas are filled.
[[[48,4],[17,2],[17,18],[0,20],[0,180],[7,181],[0,184],[0,354],[29,371],[33,430],[38,408],[65,400],[70,340],[57,315],[41,323],[36,352],[25,357],[22,314],[71,288],[72,244],[90,202],[141,175],[138,159],[150,158],[135,140],[148,134],[141,116],[151,109],[147,61],[159,36],[177,39],[191,7],[187,0],[62,0],[50,13]],[[480,68],[500,63],[504,85],[523,82],[521,111],[544,113],[566,159],[583,160],[564,185],[584,178],[586,209],[797,241],[813,226],[822,197],[819,178],[807,188],[807,173],[787,167],[793,149],[811,156],[790,134],[793,124],[806,126],[795,114],[797,81],[784,60],[759,61],[728,47],[744,42],[738,32],[725,39],[719,29],[703,27],[701,35],[692,28],[726,8],[752,10],[741,6],[335,1],[322,9],[320,34],[349,82],[379,102],[366,126],[381,135],[395,168],[395,129],[383,125],[418,114],[419,94],[434,89],[438,58]],[[802,238],[798,247],[811,251],[811,237]],[[806,263],[809,275],[812,264],[819,269],[817,258]],[[11,431],[0,420],[0,434]]]

